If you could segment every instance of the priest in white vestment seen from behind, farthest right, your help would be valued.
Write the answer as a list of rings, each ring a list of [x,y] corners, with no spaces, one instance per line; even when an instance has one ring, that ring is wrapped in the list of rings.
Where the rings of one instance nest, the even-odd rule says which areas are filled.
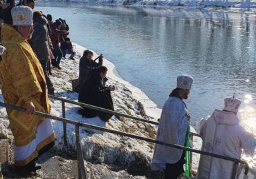
[[[241,101],[236,98],[226,98],[224,109],[215,111],[211,116],[197,122],[200,135],[203,139],[202,151],[241,158],[241,149],[245,154],[253,156],[256,140],[239,125],[237,112]],[[219,179],[231,178],[234,162],[201,155],[197,178]]]

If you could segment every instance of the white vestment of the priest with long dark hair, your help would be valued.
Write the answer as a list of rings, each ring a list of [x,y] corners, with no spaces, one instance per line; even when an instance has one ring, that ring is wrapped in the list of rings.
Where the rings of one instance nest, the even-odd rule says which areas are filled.
[[[156,134],[156,140],[176,145],[185,144],[185,134],[188,129],[188,110],[183,100],[171,96],[165,101]],[[152,170],[165,169],[165,164],[174,164],[181,159],[183,150],[165,145],[155,145],[152,159]]]

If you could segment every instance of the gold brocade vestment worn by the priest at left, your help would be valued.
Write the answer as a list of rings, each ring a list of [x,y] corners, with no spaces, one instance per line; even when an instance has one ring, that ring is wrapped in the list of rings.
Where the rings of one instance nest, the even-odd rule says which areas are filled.
[[[44,72],[28,41],[8,24],[1,25],[1,39],[6,47],[0,61],[3,101],[19,107],[33,102],[37,111],[50,114]],[[30,143],[44,118],[11,109],[7,113],[15,145]]]

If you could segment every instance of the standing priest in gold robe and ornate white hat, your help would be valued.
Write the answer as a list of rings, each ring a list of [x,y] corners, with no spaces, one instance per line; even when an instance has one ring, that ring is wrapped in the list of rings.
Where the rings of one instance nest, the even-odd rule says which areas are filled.
[[[30,173],[40,169],[35,160],[54,145],[51,120],[34,116],[35,111],[50,114],[46,80],[37,56],[28,44],[33,32],[33,10],[16,6],[11,10],[13,26],[1,25],[6,48],[0,61],[0,78],[5,103],[26,108],[26,112],[7,109],[15,139],[15,169]]]

